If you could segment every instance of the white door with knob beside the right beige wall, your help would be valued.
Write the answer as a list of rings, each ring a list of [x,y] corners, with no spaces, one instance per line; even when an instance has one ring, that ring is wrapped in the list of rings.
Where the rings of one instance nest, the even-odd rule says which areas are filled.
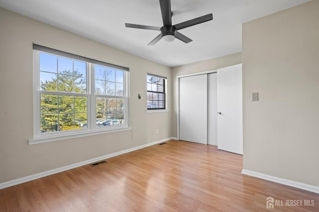
[[[243,154],[242,65],[217,70],[218,149]]]

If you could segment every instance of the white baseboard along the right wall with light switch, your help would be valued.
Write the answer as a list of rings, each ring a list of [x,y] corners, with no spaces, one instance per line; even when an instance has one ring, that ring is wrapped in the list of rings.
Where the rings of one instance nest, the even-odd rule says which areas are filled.
[[[283,185],[286,185],[286,186],[291,186],[291,187],[294,187],[294,188],[303,189],[303,190],[306,190],[306,191],[309,191],[309,192],[314,192],[314,193],[319,194],[319,187],[318,186],[312,186],[312,185],[305,184],[305,183],[299,183],[299,182],[296,182],[296,181],[287,180],[287,179],[283,179],[283,178],[279,178],[279,177],[274,177],[274,176],[262,174],[262,173],[259,173],[259,172],[249,171],[249,170],[246,170],[246,169],[243,169],[241,171],[241,173],[244,174],[244,175],[257,177],[257,178],[260,178],[260,179],[263,179],[263,180],[268,180],[268,181],[271,181],[271,182],[280,183],[280,184],[283,184]]]

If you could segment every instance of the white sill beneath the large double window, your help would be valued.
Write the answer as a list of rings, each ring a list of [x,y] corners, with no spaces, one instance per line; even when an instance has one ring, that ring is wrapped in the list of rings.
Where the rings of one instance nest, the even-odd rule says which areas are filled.
[[[54,136],[54,137],[45,137],[45,138],[33,138],[29,140],[29,145],[39,144],[39,143],[47,143],[52,141],[59,141],[59,140],[67,140],[72,138],[79,138],[79,137],[86,137],[91,135],[99,135],[111,132],[120,132],[120,131],[127,131],[132,130],[132,127],[121,127],[115,129],[107,129],[107,130],[100,130],[100,131],[92,131],[92,132],[83,132],[77,134],[70,134],[70,135],[61,135],[61,136]]]

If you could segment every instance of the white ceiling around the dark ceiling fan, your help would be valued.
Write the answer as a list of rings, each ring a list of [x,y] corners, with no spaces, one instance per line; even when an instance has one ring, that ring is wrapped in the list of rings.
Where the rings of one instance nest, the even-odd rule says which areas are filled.
[[[171,0],[172,24],[213,13],[214,19],[178,30],[193,41],[160,40],[159,0],[0,0],[0,6],[160,64],[174,67],[241,52],[242,23],[309,0]]]

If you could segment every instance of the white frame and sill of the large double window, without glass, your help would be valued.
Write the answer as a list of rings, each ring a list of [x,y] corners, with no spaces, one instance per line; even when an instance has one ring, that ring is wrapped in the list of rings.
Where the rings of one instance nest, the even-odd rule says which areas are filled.
[[[64,93],[64,92],[47,92],[40,90],[40,71],[39,71],[39,54],[40,52],[53,54],[61,57],[70,58],[73,60],[84,61],[87,64],[86,84],[87,93]],[[80,59],[79,59],[80,58]],[[82,59],[82,60],[81,60]],[[124,96],[109,96],[109,95],[95,95],[95,64],[114,68],[124,72]],[[40,95],[52,94],[63,96],[84,96],[87,97],[87,128],[86,129],[74,129],[68,131],[57,131],[41,133],[40,131]],[[123,98],[124,104],[124,124],[112,125],[112,126],[96,126],[96,97],[103,96],[109,98]],[[51,142],[56,140],[65,140],[76,137],[89,136],[94,134],[102,134],[108,132],[117,132],[131,130],[129,126],[129,69],[126,67],[109,64],[102,61],[74,55],[71,53],[63,52],[60,50],[51,49],[48,47],[33,44],[33,138],[29,140],[29,144]]]

